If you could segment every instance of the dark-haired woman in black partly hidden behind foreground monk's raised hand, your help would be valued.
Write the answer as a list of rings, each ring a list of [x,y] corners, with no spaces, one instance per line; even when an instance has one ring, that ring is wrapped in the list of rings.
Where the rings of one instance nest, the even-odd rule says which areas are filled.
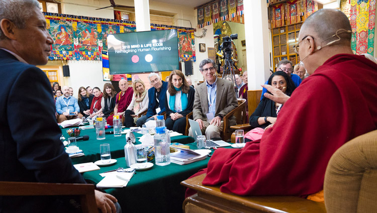
[[[291,77],[283,71],[272,73],[268,78],[268,84],[280,89],[288,96],[291,96],[292,92],[296,89],[295,83],[292,81]],[[249,123],[254,129],[245,135],[245,141],[260,139],[264,133],[264,129],[268,125],[276,122],[276,117],[281,107],[282,105],[280,103],[263,97],[254,113],[250,116]]]

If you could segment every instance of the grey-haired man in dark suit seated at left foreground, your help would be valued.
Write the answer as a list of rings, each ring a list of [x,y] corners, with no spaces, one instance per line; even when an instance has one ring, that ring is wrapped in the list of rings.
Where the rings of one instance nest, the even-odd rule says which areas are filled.
[[[85,183],[60,141],[50,82],[35,67],[47,63],[53,44],[39,7],[36,0],[0,0],[0,181]],[[103,212],[115,210],[115,197],[95,194]],[[60,212],[59,203],[0,196],[0,212]]]

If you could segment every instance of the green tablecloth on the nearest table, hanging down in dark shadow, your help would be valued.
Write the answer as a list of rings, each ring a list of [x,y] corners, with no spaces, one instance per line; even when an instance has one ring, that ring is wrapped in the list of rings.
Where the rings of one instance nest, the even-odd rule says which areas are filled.
[[[188,145],[191,149],[197,149],[195,143]],[[107,188],[105,191],[117,197],[123,212],[182,212],[185,189],[180,182],[206,168],[209,159],[207,157],[187,165],[153,165],[149,170],[136,171],[126,187]],[[88,182],[97,184],[103,179],[100,173],[119,167],[127,168],[124,157],[118,158],[114,165],[85,172],[83,177]]]

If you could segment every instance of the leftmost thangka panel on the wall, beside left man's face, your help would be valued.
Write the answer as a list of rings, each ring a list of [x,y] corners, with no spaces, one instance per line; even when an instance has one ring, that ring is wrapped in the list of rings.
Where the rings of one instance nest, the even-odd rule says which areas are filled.
[[[49,33],[54,40],[52,50],[73,50],[72,44],[74,33],[71,22],[65,20],[50,20]]]

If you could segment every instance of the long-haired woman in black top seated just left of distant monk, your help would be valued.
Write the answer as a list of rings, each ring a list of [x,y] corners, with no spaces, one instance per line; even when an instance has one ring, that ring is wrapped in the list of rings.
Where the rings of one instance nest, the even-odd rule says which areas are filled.
[[[111,83],[105,83],[104,94],[101,99],[102,113],[100,113],[100,117],[107,118],[112,112],[114,112],[116,94],[117,91],[115,91],[114,86]]]

